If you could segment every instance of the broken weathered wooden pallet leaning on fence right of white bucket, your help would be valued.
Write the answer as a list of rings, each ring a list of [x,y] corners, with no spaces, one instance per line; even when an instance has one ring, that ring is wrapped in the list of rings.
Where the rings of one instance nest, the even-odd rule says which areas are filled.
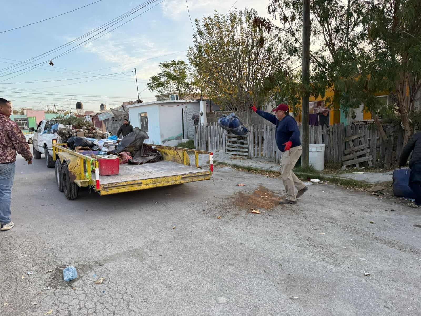
[[[366,142],[364,132],[344,137],[343,142],[345,144],[348,142],[349,145],[349,148],[344,150],[344,155],[342,156],[343,166],[355,164],[357,169],[360,169],[360,163],[364,161],[368,162],[368,166],[373,166],[373,156],[371,155],[370,144]],[[354,146],[354,142],[357,143],[357,146]]]

